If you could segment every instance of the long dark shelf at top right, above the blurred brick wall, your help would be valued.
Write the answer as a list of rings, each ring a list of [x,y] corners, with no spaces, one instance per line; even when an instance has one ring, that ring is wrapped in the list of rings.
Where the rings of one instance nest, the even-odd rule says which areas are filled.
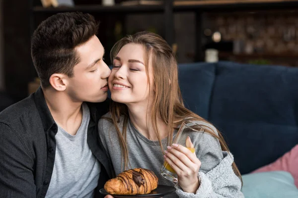
[[[298,8],[298,0],[190,0],[181,3],[175,2],[174,12],[182,11],[240,11],[240,10],[268,10],[268,9],[288,9]]]

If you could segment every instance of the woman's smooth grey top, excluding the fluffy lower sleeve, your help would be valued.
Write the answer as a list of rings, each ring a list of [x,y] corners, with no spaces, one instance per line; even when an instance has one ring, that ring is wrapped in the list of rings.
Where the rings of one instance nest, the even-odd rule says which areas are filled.
[[[110,117],[110,113],[107,113],[103,117]],[[197,124],[203,128],[208,127],[217,133],[216,128],[206,122],[196,121]],[[122,130],[123,118],[118,125],[119,129]],[[124,171],[122,165],[122,154],[121,147],[117,136],[117,131],[114,125],[101,118],[98,122],[98,132],[100,140],[108,154],[110,156],[116,175]],[[174,136],[176,131],[174,132]],[[223,152],[219,143],[219,140],[214,138],[208,133],[193,132],[188,134],[195,147],[197,157],[202,162],[200,171],[208,172],[209,170],[216,167],[223,159]],[[166,149],[167,138],[162,141],[163,149]],[[127,145],[129,152],[129,169],[131,168],[147,168],[152,170],[158,177],[158,184],[174,186],[175,184],[164,179],[160,175],[160,169],[162,167],[164,158],[159,146],[158,141],[150,141],[143,136],[134,126],[128,121],[127,126]],[[174,198],[175,194],[165,196],[165,198]]]

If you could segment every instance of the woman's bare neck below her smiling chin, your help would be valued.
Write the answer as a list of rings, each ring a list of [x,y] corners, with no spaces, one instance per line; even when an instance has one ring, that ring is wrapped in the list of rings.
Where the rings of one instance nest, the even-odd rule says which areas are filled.
[[[147,139],[157,141],[157,136],[153,131],[151,109],[151,106],[147,105],[128,105],[129,117],[136,129]],[[160,118],[157,118],[156,124],[160,139],[167,137],[167,125]]]

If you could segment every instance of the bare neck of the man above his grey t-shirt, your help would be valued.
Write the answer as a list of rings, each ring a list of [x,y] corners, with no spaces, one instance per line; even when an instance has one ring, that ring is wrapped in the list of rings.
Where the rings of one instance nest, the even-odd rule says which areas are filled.
[[[51,88],[43,92],[55,122],[69,134],[75,135],[82,121],[82,102],[75,102],[65,93]]]

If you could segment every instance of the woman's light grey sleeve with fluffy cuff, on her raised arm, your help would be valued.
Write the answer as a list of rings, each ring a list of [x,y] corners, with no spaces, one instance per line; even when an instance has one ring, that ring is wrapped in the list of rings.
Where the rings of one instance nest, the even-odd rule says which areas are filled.
[[[213,125],[203,122],[198,124],[218,134]],[[204,132],[199,139],[196,136],[193,139],[196,155],[202,163],[198,173],[200,187],[196,194],[185,193],[178,183],[176,185],[177,195],[180,198],[244,197],[241,193],[241,181],[232,169],[232,163],[234,161],[232,154],[223,151],[219,140],[207,132]]]

